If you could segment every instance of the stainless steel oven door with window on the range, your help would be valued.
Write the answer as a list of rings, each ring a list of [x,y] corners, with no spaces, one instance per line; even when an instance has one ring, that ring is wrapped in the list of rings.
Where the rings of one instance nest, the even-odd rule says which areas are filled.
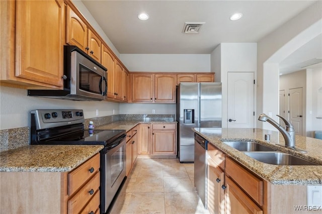
[[[102,211],[106,212],[126,176],[126,135],[103,150]],[[112,148],[111,148],[112,147]]]

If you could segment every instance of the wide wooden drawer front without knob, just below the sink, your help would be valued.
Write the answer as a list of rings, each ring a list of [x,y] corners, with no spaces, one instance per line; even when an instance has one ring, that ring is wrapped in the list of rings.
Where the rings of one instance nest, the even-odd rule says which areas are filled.
[[[244,189],[259,205],[263,205],[263,180],[230,158],[226,158],[226,175]]]

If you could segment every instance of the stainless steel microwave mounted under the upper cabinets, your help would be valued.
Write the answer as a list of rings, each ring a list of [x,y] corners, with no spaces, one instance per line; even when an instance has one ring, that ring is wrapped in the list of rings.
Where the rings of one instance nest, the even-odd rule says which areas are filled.
[[[64,46],[63,90],[28,90],[29,96],[71,100],[103,100],[107,69],[76,46]]]

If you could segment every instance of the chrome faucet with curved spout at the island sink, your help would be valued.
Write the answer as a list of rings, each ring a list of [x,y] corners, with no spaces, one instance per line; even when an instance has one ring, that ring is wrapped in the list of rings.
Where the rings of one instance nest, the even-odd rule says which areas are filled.
[[[306,151],[295,147],[295,132],[294,132],[293,125],[289,121],[287,121],[285,118],[283,118],[279,115],[276,115],[276,116],[284,121],[286,129],[284,129],[276,121],[274,121],[272,118],[268,117],[265,114],[260,114],[260,117],[258,118],[258,120],[263,121],[263,122],[268,122],[268,123],[272,124],[278,131],[280,131],[283,138],[284,138],[284,141],[285,141],[285,147],[305,153]],[[284,146],[284,145],[282,145],[282,146]]]

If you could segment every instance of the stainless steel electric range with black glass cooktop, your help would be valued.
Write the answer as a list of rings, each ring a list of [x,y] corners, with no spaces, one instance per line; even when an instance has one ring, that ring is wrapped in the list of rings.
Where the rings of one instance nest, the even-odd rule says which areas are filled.
[[[83,110],[31,111],[31,144],[104,145],[101,150],[101,212],[106,213],[126,179],[125,130],[84,129]]]

